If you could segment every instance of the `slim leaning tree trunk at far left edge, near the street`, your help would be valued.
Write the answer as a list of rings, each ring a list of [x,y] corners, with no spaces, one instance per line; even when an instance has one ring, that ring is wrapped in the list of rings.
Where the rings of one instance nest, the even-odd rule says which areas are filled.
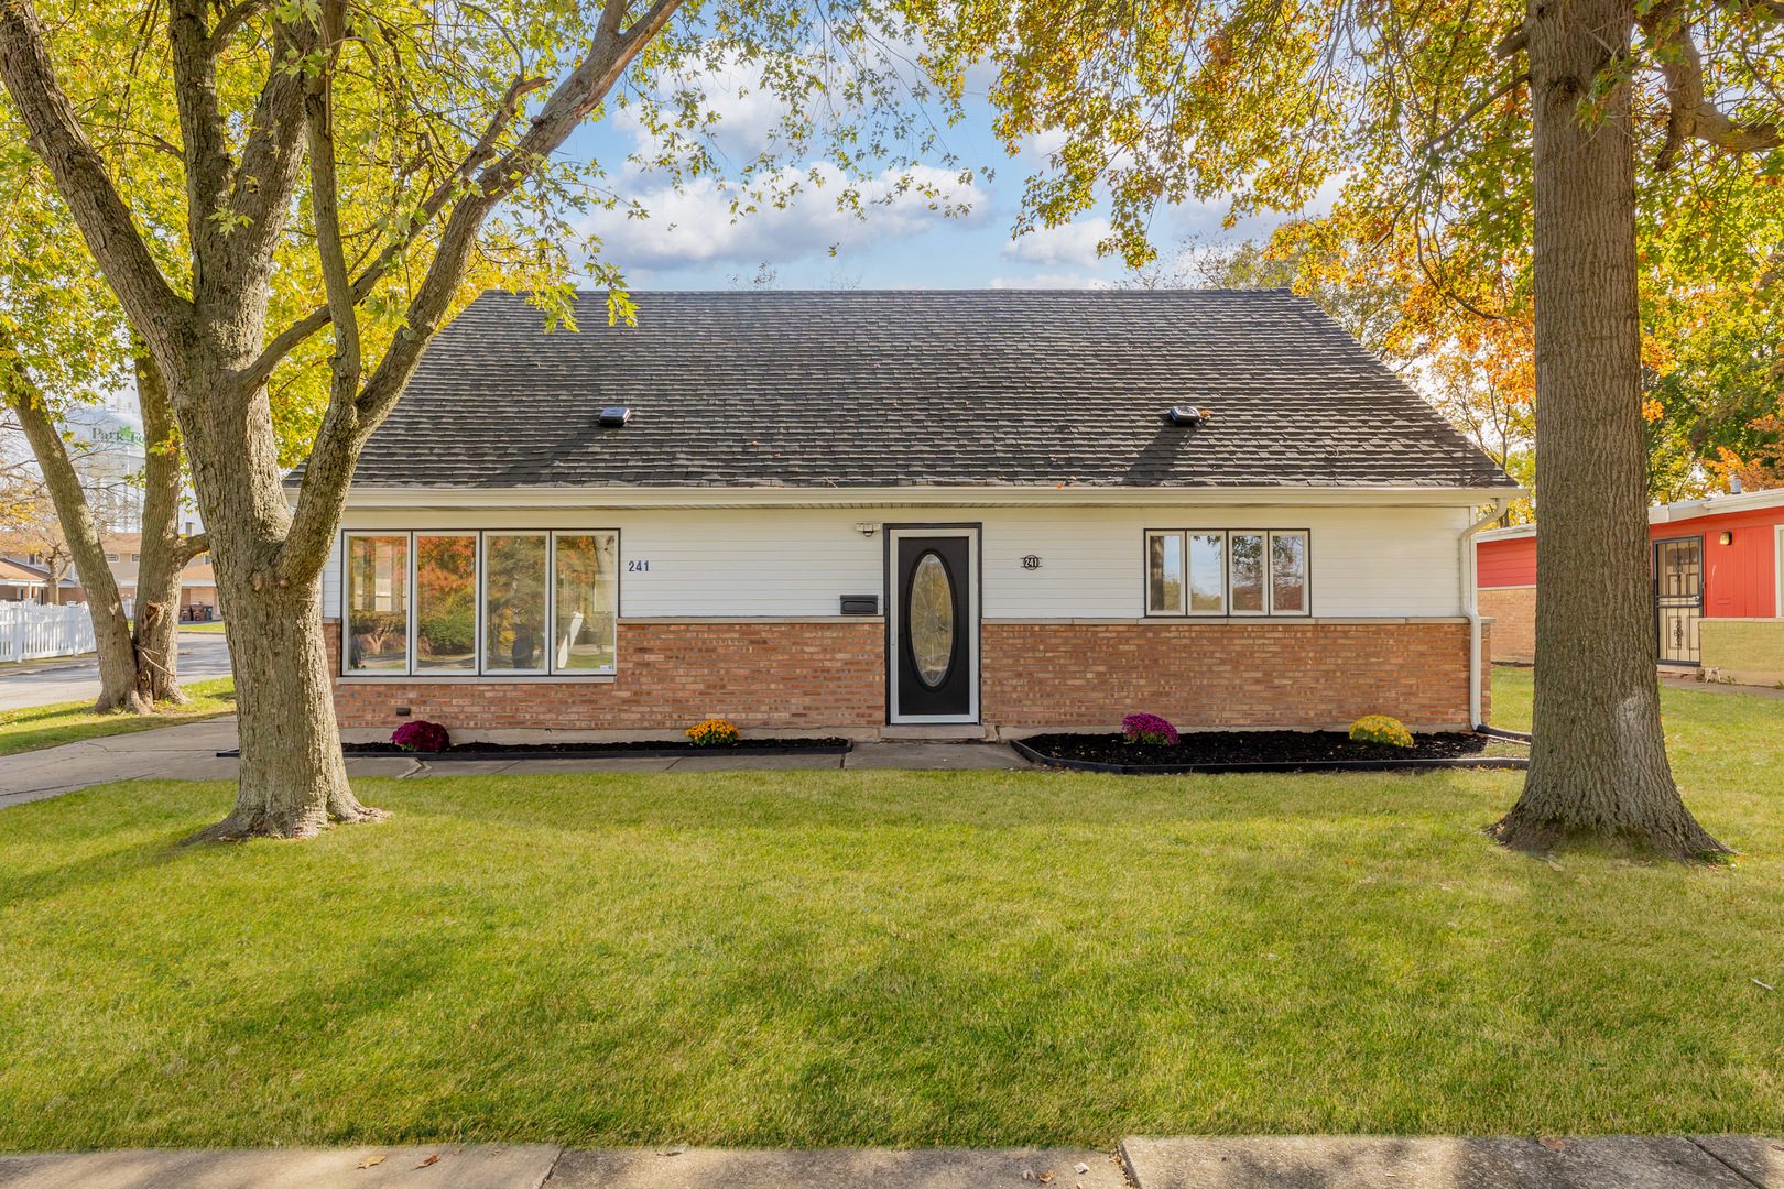
[[[0,349],[12,360],[11,335],[0,332]],[[123,599],[118,595],[118,581],[105,563],[105,544],[100,540],[98,524],[87,506],[87,494],[80,488],[80,476],[68,458],[62,435],[50,419],[43,392],[14,364],[5,369],[5,401],[18,417],[25,440],[43,471],[45,487],[55,503],[55,519],[62,526],[62,540],[73,554],[75,572],[86,588],[87,613],[93,619],[93,644],[100,661],[100,697],[93,709],[132,709],[145,711],[145,704],[136,693],[136,647],[130,642],[130,620],[123,613]],[[59,604],[62,565],[57,558],[46,558],[50,585],[45,590],[45,603]]]

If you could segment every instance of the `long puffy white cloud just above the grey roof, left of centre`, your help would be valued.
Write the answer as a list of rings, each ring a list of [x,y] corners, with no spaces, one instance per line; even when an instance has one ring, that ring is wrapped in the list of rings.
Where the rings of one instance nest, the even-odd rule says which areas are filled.
[[[817,175],[821,184],[814,184]],[[601,237],[601,255],[621,269],[673,269],[715,264],[787,264],[801,257],[838,248],[863,248],[883,239],[921,235],[947,217],[931,200],[906,189],[899,193],[899,173],[887,169],[862,185],[865,217],[853,210],[838,210],[837,198],[844,191],[842,175],[830,164],[810,169],[783,169],[776,182],[783,187],[799,182],[785,205],[764,201],[756,210],[731,216],[731,196],[710,178],[698,178],[676,191],[671,185],[635,193],[649,212],[646,219],[626,217],[624,210],[601,210],[591,216],[583,232]],[[912,178],[922,187],[947,194],[953,203],[972,210],[962,221],[976,225],[988,194],[976,185],[958,185],[953,173],[919,166]],[[644,175],[633,173],[633,182]],[[876,200],[890,198],[885,205]]]

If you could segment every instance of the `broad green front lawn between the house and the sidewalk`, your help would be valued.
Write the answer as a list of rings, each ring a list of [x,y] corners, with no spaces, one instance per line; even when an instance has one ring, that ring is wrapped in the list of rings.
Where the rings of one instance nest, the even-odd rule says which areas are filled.
[[[1529,676],[1500,672],[1500,720]],[[362,781],[0,811],[0,1148],[1775,1132],[1784,702],[1668,692],[1722,868],[1507,854],[1518,774]]]

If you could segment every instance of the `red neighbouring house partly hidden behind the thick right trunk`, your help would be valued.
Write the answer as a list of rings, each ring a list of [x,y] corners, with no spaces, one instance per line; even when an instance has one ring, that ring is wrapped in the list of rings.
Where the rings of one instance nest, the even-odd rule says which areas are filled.
[[[1784,490],[1648,508],[1654,660],[1663,672],[1714,668],[1741,683],[1784,681]],[[1475,538],[1481,613],[1495,661],[1536,658],[1536,526]]]

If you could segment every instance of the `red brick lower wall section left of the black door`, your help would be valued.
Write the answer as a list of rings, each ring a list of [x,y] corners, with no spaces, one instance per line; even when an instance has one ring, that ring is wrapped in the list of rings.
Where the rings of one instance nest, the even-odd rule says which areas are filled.
[[[328,624],[330,656],[341,627]],[[578,731],[856,727],[885,722],[885,627],[862,624],[619,624],[612,683],[335,681],[343,727],[394,727],[398,706],[448,727]]]

